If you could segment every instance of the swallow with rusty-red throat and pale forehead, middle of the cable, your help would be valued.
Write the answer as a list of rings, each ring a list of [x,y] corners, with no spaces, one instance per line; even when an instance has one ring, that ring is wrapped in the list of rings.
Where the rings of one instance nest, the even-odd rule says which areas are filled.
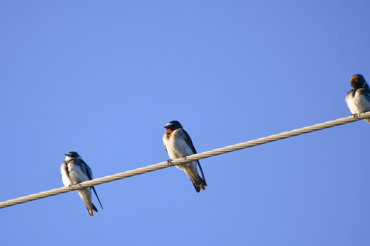
[[[168,152],[169,158],[184,158],[185,156],[196,154],[193,142],[191,141],[189,134],[184,130],[184,128],[182,128],[180,122],[171,121],[165,126],[165,128],[166,133],[163,136],[163,144],[164,148]],[[171,159],[169,159],[168,161],[171,161]],[[202,177],[198,174],[196,163],[198,163]],[[207,183],[204,178],[199,160],[179,164],[176,167],[185,171],[190,180],[193,182],[196,192],[201,191],[201,189],[205,190],[205,186],[207,186]]]

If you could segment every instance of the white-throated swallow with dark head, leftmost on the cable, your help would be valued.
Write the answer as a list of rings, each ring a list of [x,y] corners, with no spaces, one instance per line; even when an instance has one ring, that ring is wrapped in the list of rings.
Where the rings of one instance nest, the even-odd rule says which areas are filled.
[[[72,151],[64,155],[65,160],[60,166],[64,186],[71,186],[79,184],[83,181],[92,180],[91,168],[86,164],[86,162],[84,162],[84,160],[81,158],[80,155],[78,155],[77,152]],[[94,209],[95,212],[98,212],[98,209],[91,202],[91,189],[94,191],[96,197],[98,198],[100,207],[103,208],[100,203],[98,194],[96,194],[94,186],[77,190],[77,192],[80,195],[81,199],[84,201],[89,215],[94,216],[94,212],[92,211],[92,209]]]

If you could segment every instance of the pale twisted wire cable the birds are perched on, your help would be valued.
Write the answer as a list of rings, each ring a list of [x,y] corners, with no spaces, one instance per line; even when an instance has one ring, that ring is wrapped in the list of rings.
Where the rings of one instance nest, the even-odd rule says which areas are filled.
[[[288,132],[282,132],[282,133],[279,133],[279,134],[270,135],[270,136],[267,136],[267,137],[264,137],[264,138],[258,138],[258,139],[250,140],[250,141],[243,142],[243,143],[237,143],[235,145],[230,145],[230,146],[226,146],[226,147],[223,147],[223,148],[213,149],[213,150],[205,151],[205,152],[202,152],[202,153],[186,156],[186,157],[184,157],[184,159],[182,159],[182,158],[174,159],[174,160],[171,160],[170,163],[160,162],[160,163],[149,165],[149,166],[146,166],[146,167],[140,167],[140,168],[137,168],[137,169],[134,169],[134,170],[125,171],[123,173],[117,173],[117,174],[101,177],[101,178],[98,178],[98,179],[92,179],[92,180],[84,181],[80,184],[76,184],[76,185],[73,185],[73,186],[70,186],[70,187],[64,186],[64,187],[56,188],[56,189],[53,189],[53,190],[48,190],[48,191],[43,191],[43,192],[36,193],[36,194],[27,195],[25,197],[19,197],[19,198],[16,198],[16,199],[7,200],[7,201],[4,201],[4,202],[0,202],[0,208],[9,207],[9,206],[20,204],[20,203],[23,203],[23,202],[33,201],[33,200],[37,200],[37,199],[40,199],[40,198],[50,197],[52,195],[58,195],[58,194],[61,194],[61,193],[66,193],[68,191],[79,190],[79,189],[82,189],[82,188],[85,188],[85,187],[90,187],[90,186],[94,186],[94,185],[97,185],[97,184],[107,183],[107,182],[114,181],[114,180],[124,179],[124,178],[127,178],[127,177],[147,173],[147,172],[150,172],[150,171],[163,169],[163,168],[166,168],[166,167],[169,167],[169,166],[176,166],[178,164],[191,162],[191,161],[194,161],[194,160],[204,159],[204,158],[215,156],[215,155],[221,155],[223,153],[228,153],[228,152],[232,152],[232,151],[239,150],[239,149],[245,149],[245,148],[249,148],[249,147],[256,146],[256,145],[261,145],[261,144],[268,143],[268,142],[273,142],[273,141],[280,140],[280,139],[290,138],[292,136],[306,134],[306,133],[309,133],[309,132],[318,131],[318,130],[321,130],[321,129],[330,128],[330,127],[334,127],[334,126],[337,126],[337,125],[342,125],[342,124],[346,124],[346,123],[349,123],[349,122],[357,121],[357,120],[360,120],[360,119],[366,119],[366,118],[369,118],[369,117],[370,117],[370,111],[365,112],[365,113],[361,113],[360,115],[357,115],[356,117],[349,116],[349,117],[345,117],[345,118],[336,119],[336,120],[333,120],[333,121],[327,121],[327,122],[324,122],[324,123],[312,125],[312,126],[309,126],[309,127],[303,127],[303,128],[294,129],[294,130],[288,131]]]

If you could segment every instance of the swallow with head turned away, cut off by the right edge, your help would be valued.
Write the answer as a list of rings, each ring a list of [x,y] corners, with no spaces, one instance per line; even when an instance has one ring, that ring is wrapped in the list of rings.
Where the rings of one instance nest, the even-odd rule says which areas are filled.
[[[353,89],[348,91],[346,102],[349,110],[356,117],[358,114],[370,111],[370,88],[365,77],[360,74],[353,75],[350,82]],[[365,121],[370,123],[370,118]]]

